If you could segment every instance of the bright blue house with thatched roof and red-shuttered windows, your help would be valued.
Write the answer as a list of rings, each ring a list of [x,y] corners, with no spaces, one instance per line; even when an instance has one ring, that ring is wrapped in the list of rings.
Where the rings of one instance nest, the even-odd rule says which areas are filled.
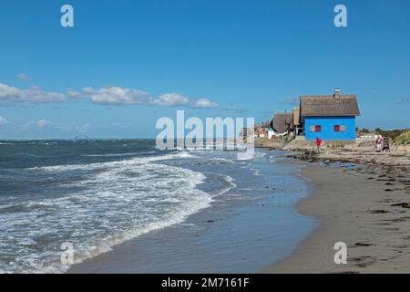
[[[306,140],[354,141],[355,119],[360,115],[355,95],[302,96],[300,104],[302,131]]]

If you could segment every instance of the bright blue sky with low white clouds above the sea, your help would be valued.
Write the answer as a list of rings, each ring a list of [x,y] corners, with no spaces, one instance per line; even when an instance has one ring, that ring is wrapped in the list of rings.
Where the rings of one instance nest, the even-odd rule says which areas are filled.
[[[60,26],[60,7],[75,26]],[[333,25],[346,5],[348,26]],[[2,1],[0,140],[154,138],[160,117],[272,119],[357,94],[360,127],[410,127],[410,2]]]

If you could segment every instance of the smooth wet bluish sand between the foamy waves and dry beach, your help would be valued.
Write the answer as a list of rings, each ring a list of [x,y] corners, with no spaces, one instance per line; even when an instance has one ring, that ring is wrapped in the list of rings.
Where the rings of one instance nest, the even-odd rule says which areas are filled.
[[[246,166],[250,176],[230,167],[237,188],[215,197],[209,208],[116,245],[67,273],[256,273],[280,261],[315,228],[294,208],[309,193],[297,173],[300,164],[280,157],[261,156]]]

